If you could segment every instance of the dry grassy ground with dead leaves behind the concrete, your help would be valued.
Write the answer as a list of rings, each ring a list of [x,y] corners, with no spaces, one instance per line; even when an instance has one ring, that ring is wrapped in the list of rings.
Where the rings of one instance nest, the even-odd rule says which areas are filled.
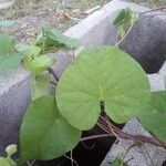
[[[103,6],[111,0],[15,0],[14,7],[0,12],[0,20],[18,20],[12,29],[1,30],[18,40],[30,41],[39,32],[41,24],[48,24],[60,31],[76,24],[87,17],[86,11]],[[151,7],[164,6],[158,0],[131,0]]]

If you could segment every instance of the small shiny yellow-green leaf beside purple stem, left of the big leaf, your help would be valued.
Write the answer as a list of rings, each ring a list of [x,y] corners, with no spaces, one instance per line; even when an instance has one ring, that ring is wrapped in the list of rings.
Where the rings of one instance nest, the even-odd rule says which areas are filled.
[[[48,68],[52,66],[55,63],[55,59],[49,55],[39,55],[34,58],[24,56],[23,64],[27,70],[30,70],[34,73],[40,73],[45,71]]]

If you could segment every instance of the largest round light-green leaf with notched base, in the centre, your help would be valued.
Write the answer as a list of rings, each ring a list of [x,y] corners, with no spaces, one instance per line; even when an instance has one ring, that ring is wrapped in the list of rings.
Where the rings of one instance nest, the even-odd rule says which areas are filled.
[[[149,83],[141,65],[113,48],[85,49],[63,72],[55,93],[60,113],[79,129],[92,128],[101,113],[124,123],[145,111],[151,100]]]

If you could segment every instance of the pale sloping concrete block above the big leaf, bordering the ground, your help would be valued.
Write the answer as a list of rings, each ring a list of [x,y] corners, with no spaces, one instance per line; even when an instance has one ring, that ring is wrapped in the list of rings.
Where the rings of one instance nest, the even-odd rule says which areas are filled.
[[[83,45],[114,44],[116,30],[112,23],[117,12],[127,7],[136,12],[148,10],[148,8],[135,3],[113,0],[79,24],[70,28],[64,34],[79,39]]]

